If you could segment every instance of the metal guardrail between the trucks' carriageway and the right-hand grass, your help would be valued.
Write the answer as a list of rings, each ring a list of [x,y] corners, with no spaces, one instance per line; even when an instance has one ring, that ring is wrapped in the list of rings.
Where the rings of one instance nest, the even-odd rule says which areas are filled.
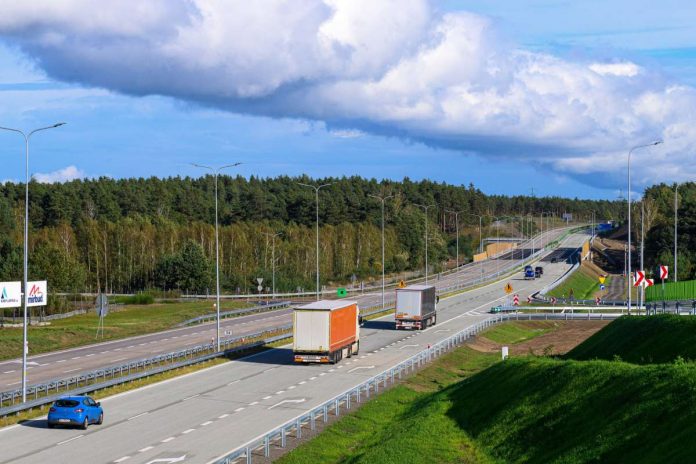
[[[601,315],[594,314],[590,319],[613,319],[619,317],[619,315]],[[260,450],[263,457],[267,458],[271,453],[271,446],[280,446],[285,448],[287,446],[288,437],[294,435],[295,438],[302,437],[303,427],[309,426],[311,430],[316,429],[317,419],[328,422],[329,414],[333,412],[335,417],[341,415],[342,410],[348,411],[351,409],[353,402],[360,403],[363,398],[369,400],[371,395],[378,394],[381,389],[386,389],[391,383],[392,385],[402,378],[403,375],[414,372],[417,368],[420,368],[424,364],[432,361],[436,357],[442,355],[461,345],[464,341],[469,339],[472,335],[487,329],[488,327],[508,321],[508,320],[548,320],[548,319],[562,319],[562,320],[572,320],[572,319],[587,319],[583,315],[572,315],[572,314],[526,314],[526,315],[508,315],[501,314],[490,317],[484,321],[475,324],[472,327],[461,330],[460,332],[430,346],[425,350],[411,356],[398,363],[397,365],[369,378],[368,380],[362,382],[361,384],[352,387],[343,393],[334,396],[328,401],[321,403],[320,405],[312,408],[309,411],[303,412],[293,419],[285,422],[279,427],[266,432],[253,440],[235,448],[232,452],[217,458],[211,463],[215,464],[232,464],[239,459],[245,459],[247,464],[251,464],[253,455],[256,451]],[[292,435],[291,435],[292,434]]]

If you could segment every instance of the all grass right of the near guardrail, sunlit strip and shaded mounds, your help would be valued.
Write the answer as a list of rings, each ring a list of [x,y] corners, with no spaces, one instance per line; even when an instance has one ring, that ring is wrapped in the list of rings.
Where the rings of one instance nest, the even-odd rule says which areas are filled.
[[[692,462],[696,364],[682,357],[696,345],[694,324],[674,316],[622,318],[568,356],[629,359],[634,348],[636,362],[675,360],[666,364],[535,356],[498,362],[497,354],[460,348],[279,462]],[[520,336],[520,328],[501,327],[488,335]]]

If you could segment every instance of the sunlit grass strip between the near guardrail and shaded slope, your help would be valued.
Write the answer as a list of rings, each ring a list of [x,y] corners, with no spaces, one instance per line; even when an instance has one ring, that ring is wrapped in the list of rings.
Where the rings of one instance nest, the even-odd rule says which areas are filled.
[[[514,343],[551,330],[524,322],[494,326],[482,336]],[[513,341],[514,340],[514,341]],[[353,414],[278,462],[300,463],[493,463],[447,416],[454,406],[442,392],[493,365],[500,354],[463,347],[375,397]]]

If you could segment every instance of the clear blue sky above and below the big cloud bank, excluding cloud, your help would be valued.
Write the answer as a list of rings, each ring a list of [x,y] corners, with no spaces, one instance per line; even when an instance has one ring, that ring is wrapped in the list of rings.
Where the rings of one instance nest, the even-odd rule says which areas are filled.
[[[663,1],[657,8],[648,1],[448,0],[435,10],[480,14],[491,21],[502,43],[525,50],[569,62],[630,61],[658,76],[651,82],[696,84],[696,9],[688,2]],[[69,66],[59,69],[60,63],[50,63],[26,38],[3,35],[1,25],[0,40],[0,125],[30,129],[68,123],[39,134],[32,143],[31,172],[49,180],[196,176],[201,173],[191,162],[241,161],[239,173],[245,176],[428,178],[474,183],[486,193],[528,194],[533,188],[537,195],[584,198],[613,199],[619,189],[625,191],[615,178],[578,168],[577,160],[572,169],[556,161],[549,169],[548,163],[536,161],[541,155],[513,153],[529,151],[528,142],[516,149],[514,143],[501,141],[506,148],[474,154],[475,149],[459,149],[465,146],[459,141],[450,145],[403,128],[384,130],[374,118],[351,124],[348,118],[324,122],[316,116],[293,117],[293,111],[251,116],[238,113],[263,112],[240,110],[236,103],[231,111],[223,109],[226,104],[202,106],[198,97],[126,95],[139,92],[118,84],[94,85],[87,73],[83,78],[84,71],[73,68],[68,74]],[[488,148],[496,144],[495,134],[486,137]],[[449,146],[456,149],[445,148]],[[22,148],[19,137],[0,133],[0,181],[23,176]],[[561,144],[550,149],[566,148]],[[602,157],[595,162],[601,164]]]

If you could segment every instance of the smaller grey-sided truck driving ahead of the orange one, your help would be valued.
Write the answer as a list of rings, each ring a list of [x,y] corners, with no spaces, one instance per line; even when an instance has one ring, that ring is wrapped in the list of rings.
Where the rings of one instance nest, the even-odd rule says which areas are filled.
[[[432,285],[409,285],[396,289],[396,329],[420,329],[437,322],[437,295]]]

